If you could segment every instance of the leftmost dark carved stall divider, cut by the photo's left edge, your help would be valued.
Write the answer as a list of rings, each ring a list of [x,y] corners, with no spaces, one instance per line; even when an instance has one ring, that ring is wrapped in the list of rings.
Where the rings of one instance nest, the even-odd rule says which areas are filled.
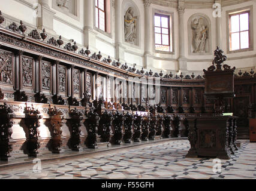
[[[11,134],[13,134],[13,121],[15,118],[13,110],[6,103],[0,106],[0,158],[1,161],[8,161],[10,152],[13,150]]]

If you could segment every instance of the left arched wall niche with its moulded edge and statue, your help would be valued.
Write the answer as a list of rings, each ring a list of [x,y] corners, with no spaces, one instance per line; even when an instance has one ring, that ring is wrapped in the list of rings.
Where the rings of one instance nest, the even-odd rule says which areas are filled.
[[[140,45],[140,11],[134,1],[125,0],[122,4],[124,42]]]

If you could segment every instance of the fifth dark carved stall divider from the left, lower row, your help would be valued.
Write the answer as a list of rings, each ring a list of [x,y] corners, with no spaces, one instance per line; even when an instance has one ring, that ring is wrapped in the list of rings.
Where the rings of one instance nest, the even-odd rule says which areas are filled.
[[[97,147],[97,127],[99,125],[100,117],[98,116],[98,113],[94,112],[92,108],[90,108],[86,116],[88,117],[88,119],[86,119],[85,121],[85,126],[88,135],[85,144],[88,148],[95,149]]]

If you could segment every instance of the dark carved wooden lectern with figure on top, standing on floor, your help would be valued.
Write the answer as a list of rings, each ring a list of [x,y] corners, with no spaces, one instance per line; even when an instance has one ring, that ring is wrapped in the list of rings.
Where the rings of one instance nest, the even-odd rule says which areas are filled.
[[[223,51],[217,47],[215,58],[207,70],[203,70],[206,79],[204,96],[215,101],[215,113],[211,116],[188,116],[191,149],[186,157],[198,156],[230,159],[230,155],[238,150],[236,141],[236,120],[234,116],[222,116],[224,98],[234,97],[234,70],[222,63],[227,59]],[[216,67],[215,67],[216,64]]]

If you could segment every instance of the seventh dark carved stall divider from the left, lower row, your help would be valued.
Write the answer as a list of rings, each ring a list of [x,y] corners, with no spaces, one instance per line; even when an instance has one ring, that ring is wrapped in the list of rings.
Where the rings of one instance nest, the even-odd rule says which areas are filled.
[[[113,135],[113,143],[114,144],[120,144],[123,136],[123,130],[122,127],[124,125],[124,115],[120,112],[116,112],[113,115],[113,128],[115,130],[115,133]]]

